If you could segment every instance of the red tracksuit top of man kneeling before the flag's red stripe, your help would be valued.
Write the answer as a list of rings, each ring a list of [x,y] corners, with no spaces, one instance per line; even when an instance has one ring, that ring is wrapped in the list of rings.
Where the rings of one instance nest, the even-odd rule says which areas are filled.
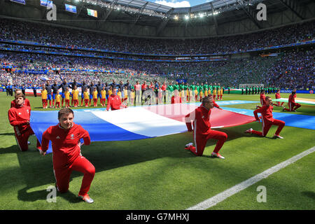
[[[189,117],[189,120],[193,120],[196,134],[209,134],[211,132],[210,115],[211,109],[208,110],[204,106],[199,106],[192,113],[188,113],[186,118]],[[186,124],[191,127],[191,123],[188,122]],[[188,130],[191,130],[191,128],[188,127]]]

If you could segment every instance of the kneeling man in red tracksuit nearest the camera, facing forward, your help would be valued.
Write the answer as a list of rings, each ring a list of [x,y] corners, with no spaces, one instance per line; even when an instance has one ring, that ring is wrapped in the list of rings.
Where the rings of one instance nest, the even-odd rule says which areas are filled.
[[[80,125],[73,123],[73,111],[69,108],[58,112],[59,124],[48,127],[43,132],[41,154],[45,155],[49,141],[52,142],[52,163],[57,181],[57,190],[66,193],[69,189],[69,179],[73,170],[84,174],[78,197],[87,203],[94,202],[87,192],[94,178],[95,168],[81,154],[80,139],[85,145],[90,145],[90,134]]]

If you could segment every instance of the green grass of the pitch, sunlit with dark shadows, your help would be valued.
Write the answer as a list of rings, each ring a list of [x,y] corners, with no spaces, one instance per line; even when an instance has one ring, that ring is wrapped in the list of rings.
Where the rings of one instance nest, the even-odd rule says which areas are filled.
[[[314,99],[310,94],[298,97]],[[27,98],[32,110],[43,110],[40,97]],[[259,95],[225,94],[223,99],[259,101]],[[52,155],[39,155],[35,137],[29,139],[29,151],[20,152],[8,123],[11,100],[0,93],[1,210],[187,209],[314,146],[314,130],[284,127],[281,136],[285,139],[272,138],[276,127],[266,138],[244,133],[249,127],[261,130],[259,123],[220,129],[228,134],[221,149],[225,160],[210,158],[214,140],[208,141],[202,157],[186,151],[185,144],[193,142],[188,132],[137,141],[92,142],[83,146],[82,153],[96,168],[89,192],[94,203],[76,197],[83,177],[78,172],[71,175],[69,193],[57,193],[57,202],[48,203],[46,189],[55,185]],[[253,109],[254,105],[228,107]],[[302,105],[297,111],[315,116],[314,107]],[[211,209],[315,209],[314,169],[312,153]],[[267,188],[266,203],[256,201],[260,185]]]

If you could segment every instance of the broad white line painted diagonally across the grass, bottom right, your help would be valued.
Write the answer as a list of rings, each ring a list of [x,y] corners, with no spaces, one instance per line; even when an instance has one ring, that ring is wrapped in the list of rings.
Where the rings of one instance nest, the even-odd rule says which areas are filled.
[[[193,207],[190,207],[186,210],[209,209],[210,207],[215,206],[219,202],[223,202],[228,197],[231,197],[232,195],[239,193],[241,190],[244,190],[248,188],[249,186],[252,186],[258,181],[261,181],[262,179],[267,178],[269,175],[274,174],[275,172],[278,172],[280,169],[283,169],[284,167],[292,164],[293,162],[300,160],[304,156],[314,153],[314,151],[315,151],[315,146],[313,148],[309,148],[307,151],[304,151],[298,155],[293,156],[293,158],[290,158],[284,162],[279,163],[278,165],[275,165],[274,167],[271,167],[265,170],[264,172],[260,174],[257,174],[256,176],[251,177],[250,179],[247,179],[246,181],[243,181],[233,186],[232,188],[229,188],[228,190],[223,191],[222,193],[218,193],[218,195],[215,195],[214,197],[204,200],[203,202],[200,202],[199,204],[196,204]]]

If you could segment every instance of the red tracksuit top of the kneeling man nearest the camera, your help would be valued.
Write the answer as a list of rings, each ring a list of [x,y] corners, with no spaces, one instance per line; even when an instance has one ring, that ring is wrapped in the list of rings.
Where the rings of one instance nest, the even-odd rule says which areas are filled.
[[[90,134],[81,125],[73,123],[69,130],[65,130],[59,124],[50,126],[43,132],[41,150],[47,151],[49,141],[51,141],[54,167],[68,167],[80,155],[80,146],[78,145],[80,139],[84,140],[85,145],[91,143]]]

